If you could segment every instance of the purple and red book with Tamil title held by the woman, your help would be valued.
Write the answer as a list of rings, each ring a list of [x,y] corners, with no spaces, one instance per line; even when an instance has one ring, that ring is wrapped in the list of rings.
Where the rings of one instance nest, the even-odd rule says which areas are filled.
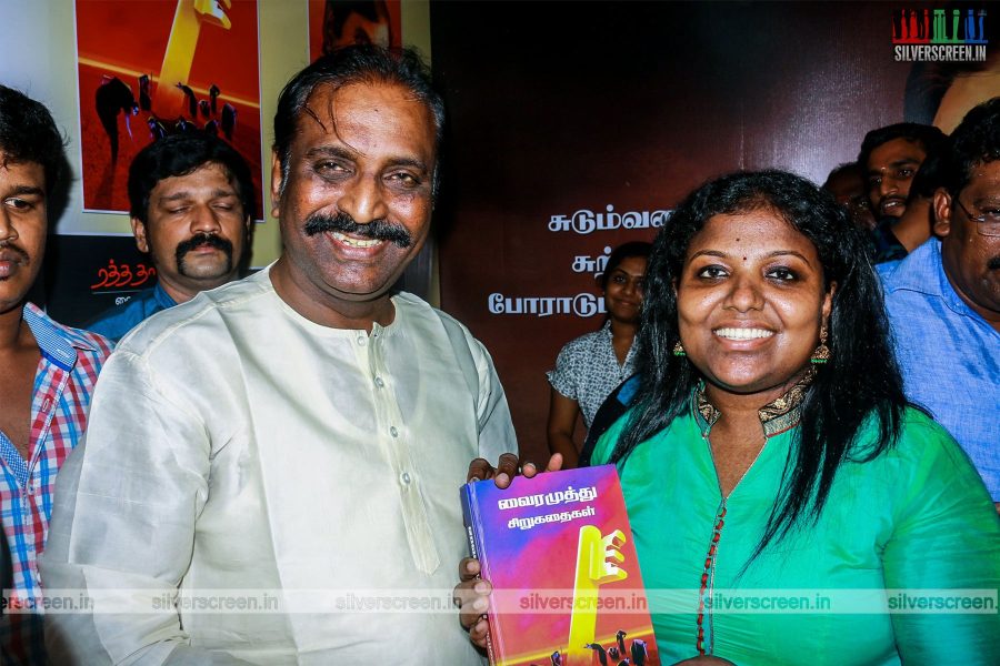
[[[614,465],[462,486],[493,666],[658,666]]]

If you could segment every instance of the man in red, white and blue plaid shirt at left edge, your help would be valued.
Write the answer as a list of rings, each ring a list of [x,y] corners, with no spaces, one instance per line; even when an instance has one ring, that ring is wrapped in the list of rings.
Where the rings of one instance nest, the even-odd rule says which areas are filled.
[[[106,339],[57,324],[27,301],[42,263],[62,150],[49,111],[0,85],[0,518],[10,551],[0,622],[4,664],[44,663],[37,557],[56,473],[83,435],[93,383],[111,352]]]

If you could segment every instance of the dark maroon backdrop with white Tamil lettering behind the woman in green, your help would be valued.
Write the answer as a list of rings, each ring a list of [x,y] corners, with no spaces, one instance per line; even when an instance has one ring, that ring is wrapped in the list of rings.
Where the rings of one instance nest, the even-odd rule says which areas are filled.
[[[703,180],[781,167],[822,182],[902,120],[891,3],[433,2],[450,125],[442,306],[490,350],[541,458],[559,349],[601,315],[510,315],[491,293],[598,293],[574,256],[653,230],[552,233],[552,215],[670,209]]]

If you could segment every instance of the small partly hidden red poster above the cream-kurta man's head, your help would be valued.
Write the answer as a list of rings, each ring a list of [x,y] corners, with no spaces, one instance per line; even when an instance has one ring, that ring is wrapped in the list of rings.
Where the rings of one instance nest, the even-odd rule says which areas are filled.
[[[399,0],[309,0],[309,60],[352,43],[401,46]]]

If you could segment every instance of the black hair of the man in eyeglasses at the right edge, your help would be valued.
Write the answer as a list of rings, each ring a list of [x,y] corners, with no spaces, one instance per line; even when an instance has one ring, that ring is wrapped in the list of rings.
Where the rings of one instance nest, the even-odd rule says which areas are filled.
[[[976,167],[1000,159],[1000,97],[969,111],[951,133],[944,188],[952,198],[969,184]]]

